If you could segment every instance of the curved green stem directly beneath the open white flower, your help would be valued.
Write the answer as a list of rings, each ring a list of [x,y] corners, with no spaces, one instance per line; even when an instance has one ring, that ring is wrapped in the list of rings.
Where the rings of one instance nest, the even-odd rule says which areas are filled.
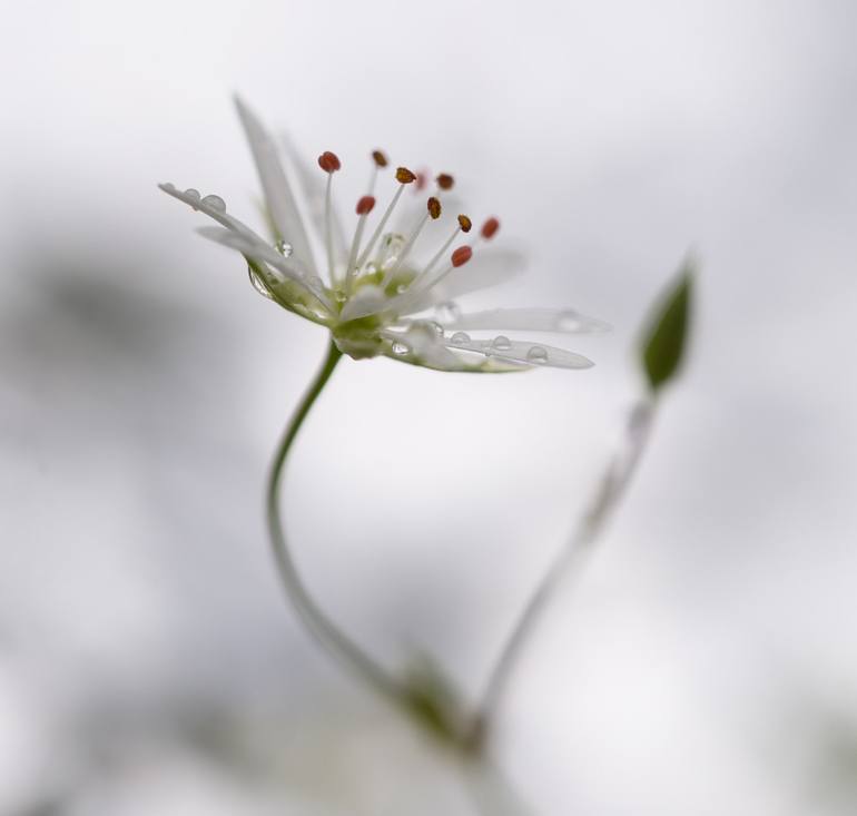
[[[395,702],[402,702],[403,691],[400,685],[393,680],[390,675],[378,666],[368,655],[366,655],[347,635],[345,635],[313,600],[306,586],[295,567],[294,558],[286,542],[286,535],[283,530],[283,521],[279,513],[279,489],[283,481],[283,471],[304,420],[309,410],[315,404],[318,395],[322,393],[327,381],[331,378],[336,364],[342,357],[342,352],[331,340],[327,350],[327,356],[309,384],[306,393],[302,397],[295,413],[286,425],[283,436],[279,440],[274,461],[270,465],[268,475],[266,508],[268,533],[274,548],[279,576],[283,580],[283,587],[286,590],[288,599],[292,601],[298,616],[302,618],[306,628],[315,636],[318,642],[325,647],[332,655],[338,658],[343,665],[353,671],[357,677],[373,687],[382,696],[392,698]]]

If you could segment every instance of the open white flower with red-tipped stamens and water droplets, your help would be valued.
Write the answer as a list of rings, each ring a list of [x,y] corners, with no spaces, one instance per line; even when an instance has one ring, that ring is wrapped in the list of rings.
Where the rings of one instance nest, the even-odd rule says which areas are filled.
[[[499,228],[496,218],[489,218],[475,230],[476,237],[467,240],[470,218],[444,216],[444,201],[453,186],[451,176],[439,176],[433,195],[421,199],[420,212],[414,212],[413,196],[408,196],[410,205],[401,199],[410,185],[418,191],[422,179],[400,167],[392,199],[370,227],[370,216],[375,210],[375,181],[387,165],[378,150],[372,154],[372,179],[357,201],[349,243],[331,196],[339,159],[329,151],[322,154],[318,165],[324,175],[297,165],[297,180],[306,197],[309,219],[317,229],[318,245],[324,247],[323,279],[279,149],[240,100],[237,107],[265,191],[275,242],[266,240],[229,215],[219,196],[201,197],[195,189],[183,193],[171,184],[160,188],[220,224],[199,232],[244,255],[250,279],[260,294],[326,326],[339,351],[355,358],[383,354],[440,371],[473,372],[592,365],[580,354],[543,343],[510,340],[505,332],[591,332],[604,327],[599,321],[572,309],[496,308],[466,314],[454,304],[454,297],[508,279],[521,266],[521,259],[485,246]],[[326,185],[322,181],[325,176]],[[410,210],[404,222],[403,209]],[[391,222],[403,223],[402,232],[385,232]],[[453,244],[457,246],[453,248]],[[417,262],[423,247],[432,245],[434,250],[426,253],[428,259]],[[487,338],[467,334],[486,331],[503,333]]]

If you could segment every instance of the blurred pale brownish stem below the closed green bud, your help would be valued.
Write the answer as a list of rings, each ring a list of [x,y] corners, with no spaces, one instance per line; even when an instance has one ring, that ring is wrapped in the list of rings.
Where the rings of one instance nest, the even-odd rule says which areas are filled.
[[[542,580],[530,596],[500,657],[489,676],[482,702],[471,722],[469,740],[479,746],[484,739],[491,720],[500,706],[514,669],[530,641],[544,609],[553,599],[556,588],[577,578],[585,566],[593,544],[624,495],[631,476],[637,470],[654,417],[654,403],[641,400],[631,411],[623,444],[608,465],[585,514],[569,541],[556,553]]]

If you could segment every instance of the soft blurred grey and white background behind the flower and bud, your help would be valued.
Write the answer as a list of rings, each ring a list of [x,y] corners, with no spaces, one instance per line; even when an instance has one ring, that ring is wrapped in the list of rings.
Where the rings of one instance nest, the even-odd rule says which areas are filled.
[[[253,220],[235,90],[344,187],[376,146],[455,173],[531,258],[473,305],[615,326],[583,373],[346,361],[286,492],[328,607],[474,694],[692,247],[692,365],[499,761],[548,816],[854,813],[855,31],[847,0],[8,8],[0,813],[470,813],[279,597],[264,471],[325,338],[155,187]]]

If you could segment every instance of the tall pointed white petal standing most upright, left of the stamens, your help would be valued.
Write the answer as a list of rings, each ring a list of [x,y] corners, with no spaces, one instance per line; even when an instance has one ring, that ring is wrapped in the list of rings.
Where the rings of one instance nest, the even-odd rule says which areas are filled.
[[[247,140],[250,142],[250,150],[256,163],[256,169],[259,174],[259,181],[265,190],[265,199],[268,204],[270,217],[279,233],[279,237],[292,245],[292,253],[301,264],[316,274],[313,253],[309,248],[309,239],[301,219],[301,214],[288,186],[286,174],[277,155],[277,146],[268,136],[262,122],[247,108],[247,106],[236,97],[235,105],[238,108],[244,131]]]

